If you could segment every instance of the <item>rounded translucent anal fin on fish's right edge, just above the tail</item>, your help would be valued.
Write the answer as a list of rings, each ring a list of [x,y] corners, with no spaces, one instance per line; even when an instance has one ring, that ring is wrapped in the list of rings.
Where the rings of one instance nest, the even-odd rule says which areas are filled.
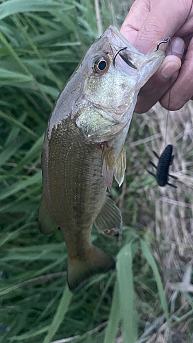
[[[94,225],[106,236],[115,235],[122,226],[122,213],[115,205],[115,202],[106,196],[106,200]]]

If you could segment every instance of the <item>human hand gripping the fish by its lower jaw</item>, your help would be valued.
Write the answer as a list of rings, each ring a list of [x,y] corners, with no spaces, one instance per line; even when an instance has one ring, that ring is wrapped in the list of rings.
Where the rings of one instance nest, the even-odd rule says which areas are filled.
[[[167,48],[161,45],[166,50],[166,58],[141,88],[135,112],[144,113],[157,101],[166,109],[169,106],[170,110],[179,110],[192,97],[192,3],[192,0],[135,0],[133,3],[120,32],[141,53],[148,54],[163,38],[172,38],[172,49],[168,44]]]

